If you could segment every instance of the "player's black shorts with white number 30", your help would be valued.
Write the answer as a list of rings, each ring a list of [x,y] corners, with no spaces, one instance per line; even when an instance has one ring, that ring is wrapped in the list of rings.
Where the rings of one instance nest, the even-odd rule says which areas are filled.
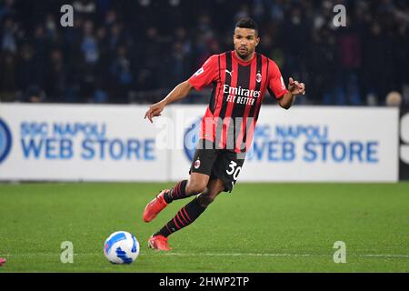
[[[224,182],[224,192],[230,193],[242,170],[245,154],[217,149],[214,144],[209,146],[209,143],[199,140],[199,145],[206,146],[196,149],[189,174],[200,173],[210,176],[210,179],[218,178]]]

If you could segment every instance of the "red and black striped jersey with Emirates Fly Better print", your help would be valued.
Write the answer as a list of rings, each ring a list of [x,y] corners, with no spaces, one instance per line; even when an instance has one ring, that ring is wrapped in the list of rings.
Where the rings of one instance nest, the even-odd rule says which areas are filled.
[[[213,85],[200,138],[236,153],[246,152],[251,145],[265,91],[277,99],[288,92],[273,60],[254,54],[244,62],[234,51],[210,56],[188,82],[198,91]]]

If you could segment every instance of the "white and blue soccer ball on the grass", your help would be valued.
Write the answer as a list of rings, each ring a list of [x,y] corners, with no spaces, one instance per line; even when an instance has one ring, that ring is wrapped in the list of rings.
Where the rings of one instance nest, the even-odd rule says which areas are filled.
[[[112,264],[131,264],[139,255],[139,243],[130,233],[117,231],[106,238],[104,254]]]

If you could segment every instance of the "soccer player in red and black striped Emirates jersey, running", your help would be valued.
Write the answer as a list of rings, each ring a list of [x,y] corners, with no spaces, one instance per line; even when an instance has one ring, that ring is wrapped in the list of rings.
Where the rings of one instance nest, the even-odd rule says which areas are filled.
[[[192,224],[222,192],[231,192],[251,145],[255,123],[265,91],[288,109],[295,95],[304,95],[303,83],[289,78],[288,88],[273,60],[257,54],[260,42],[257,24],[243,18],[234,28],[234,51],[210,56],[185,82],[176,85],[162,101],[145,114],[152,123],[166,105],[185,98],[195,88],[213,85],[210,104],[202,119],[199,142],[188,179],[165,189],[145,206],[143,218],[152,221],[168,204],[189,196],[195,198],[148,240],[148,246],[168,251],[167,237]]]

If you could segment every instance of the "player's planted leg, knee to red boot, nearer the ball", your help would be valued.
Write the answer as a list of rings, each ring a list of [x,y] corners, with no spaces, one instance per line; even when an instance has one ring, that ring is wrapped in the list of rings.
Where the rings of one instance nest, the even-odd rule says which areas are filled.
[[[164,227],[149,238],[149,247],[165,251],[170,250],[171,248],[167,244],[167,237],[191,225],[223,190],[223,181],[219,179],[210,180],[205,191],[183,206]]]

